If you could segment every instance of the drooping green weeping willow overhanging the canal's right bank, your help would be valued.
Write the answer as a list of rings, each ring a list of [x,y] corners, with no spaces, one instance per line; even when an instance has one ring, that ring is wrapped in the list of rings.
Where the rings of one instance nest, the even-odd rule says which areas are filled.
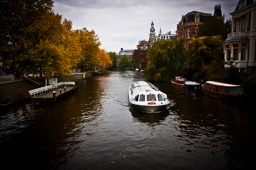
[[[145,68],[148,80],[169,81],[174,75],[186,73],[184,39],[156,41],[149,50],[149,63]]]

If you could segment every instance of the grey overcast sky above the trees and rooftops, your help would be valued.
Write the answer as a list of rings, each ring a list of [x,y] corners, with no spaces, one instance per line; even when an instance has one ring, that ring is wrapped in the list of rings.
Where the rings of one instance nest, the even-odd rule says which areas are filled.
[[[214,14],[221,4],[225,21],[238,0],[53,0],[54,12],[72,21],[72,28],[94,30],[101,48],[118,53],[136,49],[139,41],[148,41],[151,23],[155,33],[176,34],[182,15],[191,11]]]

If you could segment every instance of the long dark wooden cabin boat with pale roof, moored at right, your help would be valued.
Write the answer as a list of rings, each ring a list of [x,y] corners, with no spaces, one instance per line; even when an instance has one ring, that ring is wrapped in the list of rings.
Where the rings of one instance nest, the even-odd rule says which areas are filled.
[[[233,99],[244,97],[244,86],[207,81],[202,85],[201,90],[210,96]]]

